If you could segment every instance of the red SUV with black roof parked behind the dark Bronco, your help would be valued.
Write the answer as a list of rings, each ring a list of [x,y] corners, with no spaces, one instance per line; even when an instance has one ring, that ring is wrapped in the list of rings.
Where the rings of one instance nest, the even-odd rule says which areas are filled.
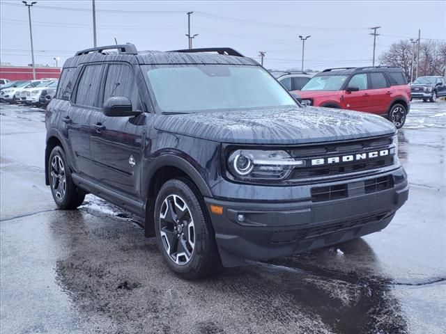
[[[302,103],[375,113],[399,129],[410,109],[410,88],[400,67],[332,68],[298,92]]]

